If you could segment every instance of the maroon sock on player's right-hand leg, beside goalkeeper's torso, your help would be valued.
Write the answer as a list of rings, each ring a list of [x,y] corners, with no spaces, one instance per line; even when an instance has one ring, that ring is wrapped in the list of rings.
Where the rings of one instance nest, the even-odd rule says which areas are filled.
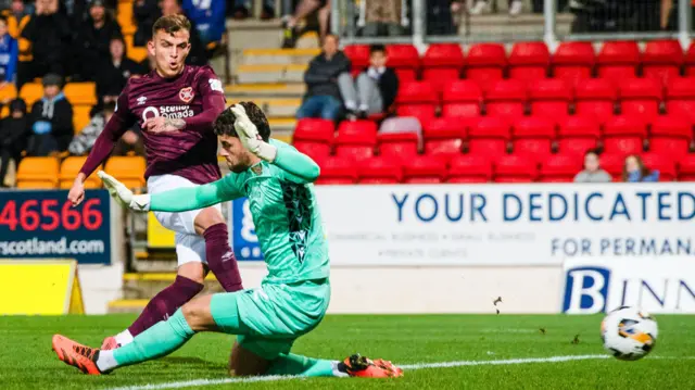
[[[207,266],[227,292],[243,289],[235,252],[229,248],[227,224],[216,224],[203,232]]]

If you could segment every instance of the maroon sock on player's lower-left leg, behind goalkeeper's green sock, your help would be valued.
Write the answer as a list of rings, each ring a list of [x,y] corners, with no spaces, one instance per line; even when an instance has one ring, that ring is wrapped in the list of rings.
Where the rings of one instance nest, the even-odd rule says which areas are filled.
[[[132,337],[136,337],[152,325],[161,320],[166,320],[166,318],[174,314],[184,303],[190,301],[202,290],[202,284],[177,275],[172,286],[160,291],[160,293],[150,300],[142,313],[140,313],[138,319],[128,327],[128,331]]]

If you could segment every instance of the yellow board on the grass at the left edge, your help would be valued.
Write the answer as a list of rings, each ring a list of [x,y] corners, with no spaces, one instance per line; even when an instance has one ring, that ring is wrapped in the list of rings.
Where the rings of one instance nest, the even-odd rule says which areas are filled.
[[[0,260],[0,314],[84,314],[74,260]]]

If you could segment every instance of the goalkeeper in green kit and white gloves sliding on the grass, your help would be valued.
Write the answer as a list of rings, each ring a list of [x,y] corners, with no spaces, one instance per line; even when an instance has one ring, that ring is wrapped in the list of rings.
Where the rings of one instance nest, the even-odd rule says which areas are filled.
[[[321,322],[330,300],[328,247],[312,185],[318,165],[269,139],[268,122],[254,103],[225,110],[213,128],[232,171],[220,180],[135,196],[105,173],[99,176],[114,198],[139,212],[181,212],[248,197],[268,268],[261,287],[195,298],[131,343],[111,351],[55,335],[59,358],[85,374],[100,375],[167,355],[199,331],[217,331],[237,335],[229,362],[236,376],[402,376],[391,362],[357,354],[340,362],[290,353],[294,340]]]

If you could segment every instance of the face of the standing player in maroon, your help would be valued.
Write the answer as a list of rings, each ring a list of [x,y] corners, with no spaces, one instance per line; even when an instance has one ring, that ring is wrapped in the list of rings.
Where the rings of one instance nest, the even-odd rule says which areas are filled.
[[[164,78],[177,76],[184,71],[188,52],[191,50],[190,34],[180,29],[174,34],[159,30],[148,42],[148,51],[154,58],[156,72]]]

